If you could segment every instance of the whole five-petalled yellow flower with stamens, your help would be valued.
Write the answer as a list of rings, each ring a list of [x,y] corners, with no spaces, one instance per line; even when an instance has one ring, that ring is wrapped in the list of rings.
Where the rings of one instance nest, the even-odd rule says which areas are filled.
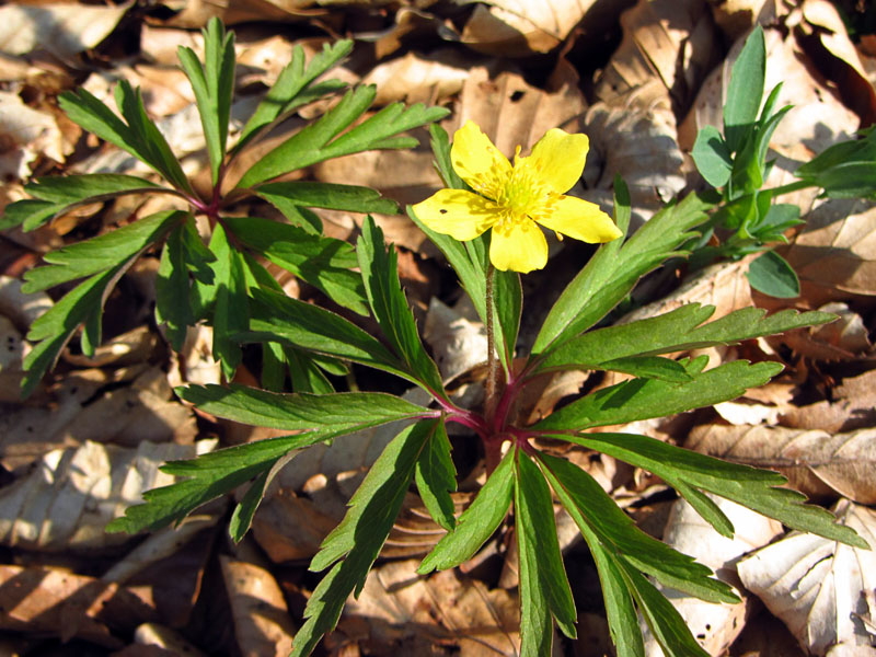
[[[528,158],[514,166],[471,120],[453,136],[450,160],[459,176],[477,194],[441,189],[414,206],[435,232],[473,240],[493,229],[489,261],[497,269],[527,273],[548,263],[548,242],[537,226],[585,242],[621,237],[596,204],[565,196],[584,171],[589,140],[560,128],[545,132]]]

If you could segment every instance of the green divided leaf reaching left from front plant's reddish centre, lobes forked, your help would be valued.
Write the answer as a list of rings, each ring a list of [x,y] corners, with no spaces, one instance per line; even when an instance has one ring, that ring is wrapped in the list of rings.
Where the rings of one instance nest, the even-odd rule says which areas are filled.
[[[263,477],[254,485],[264,489],[269,471],[291,450],[428,413],[420,406],[381,393],[276,394],[239,385],[196,385],[177,389],[176,393],[219,417],[302,433],[163,465],[162,471],[188,479],[147,492],[143,496],[146,504],[129,507],[125,517],[117,518],[107,527],[110,531],[154,531],[178,522],[200,505],[253,477]],[[235,540],[245,531],[247,519],[252,518],[260,500],[261,494],[250,496],[237,511],[235,516],[244,521],[238,522]]]

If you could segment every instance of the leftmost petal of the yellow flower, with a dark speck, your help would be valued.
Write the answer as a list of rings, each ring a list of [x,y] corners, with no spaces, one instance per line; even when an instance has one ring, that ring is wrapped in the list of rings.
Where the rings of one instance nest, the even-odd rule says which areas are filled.
[[[473,240],[498,218],[496,204],[465,189],[440,189],[413,210],[427,228],[461,241]]]

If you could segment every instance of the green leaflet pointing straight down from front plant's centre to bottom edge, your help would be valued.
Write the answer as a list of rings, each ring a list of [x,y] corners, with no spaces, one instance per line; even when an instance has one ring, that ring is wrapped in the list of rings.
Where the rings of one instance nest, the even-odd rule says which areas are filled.
[[[517,452],[515,477],[515,532],[520,555],[520,632],[522,643],[531,631],[526,619],[531,615],[528,609],[543,603],[556,621],[560,630],[569,638],[575,638],[575,601],[568,585],[560,542],[556,538],[556,522],[551,491],[544,476],[528,456]],[[523,564],[529,576],[523,577]],[[535,614],[541,615],[537,612]],[[533,623],[534,624],[534,623]],[[537,630],[538,631],[538,630]],[[549,636],[550,636],[549,632]],[[526,650],[521,650],[526,654]],[[542,655],[549,653],[541,653]]]

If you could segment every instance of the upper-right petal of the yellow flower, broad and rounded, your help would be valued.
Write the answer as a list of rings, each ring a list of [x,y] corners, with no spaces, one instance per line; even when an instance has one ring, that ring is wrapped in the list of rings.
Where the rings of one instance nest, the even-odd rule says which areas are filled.
[[[569,135],[560,128],[551,128],[532,148],[532,154],[521,158],[518,166],[526,166],[552,192],[565,194],[581,177],[589,148],[587,135]]]

